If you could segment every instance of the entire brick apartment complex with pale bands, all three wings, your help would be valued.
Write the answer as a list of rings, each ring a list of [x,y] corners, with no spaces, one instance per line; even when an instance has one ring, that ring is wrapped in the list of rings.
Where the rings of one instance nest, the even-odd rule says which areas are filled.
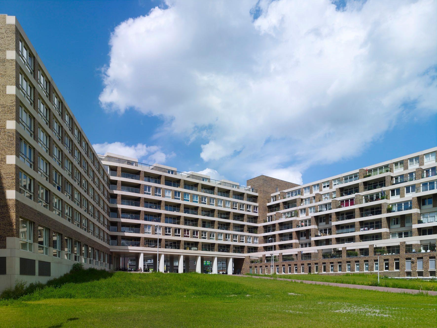
[[[0,36],[0,290],[76,262],[435,276],[437,148],[302,186],[98,155],[14,16]]]

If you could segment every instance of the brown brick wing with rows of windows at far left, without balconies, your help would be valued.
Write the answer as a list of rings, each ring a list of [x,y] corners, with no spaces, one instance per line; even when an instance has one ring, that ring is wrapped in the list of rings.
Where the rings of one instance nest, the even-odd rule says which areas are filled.
[[[0,38],[0,290],[111,269],[108,173],[14,16]]]

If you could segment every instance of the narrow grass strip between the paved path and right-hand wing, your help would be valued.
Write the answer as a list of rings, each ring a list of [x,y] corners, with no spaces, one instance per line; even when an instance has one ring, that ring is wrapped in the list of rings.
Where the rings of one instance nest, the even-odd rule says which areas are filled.
[[[254,276],[254,275],[253,275]],[[257,275],[263,276],[263,275]],[[270,275],[267,275],[270,276]],[[369,273],[345,273],[338,276],[326,274],[281,274],[274,275],[278,278],[296,279],[296,280],[311,280],[311,281],[326,281],[329,283],[351,283],[355,285],[381,286],[393,288],[406,288],[417,290],[437,290],[437,280],[423,279],[392,279],[383,278],[380,276],[378,284],[378,275]]]

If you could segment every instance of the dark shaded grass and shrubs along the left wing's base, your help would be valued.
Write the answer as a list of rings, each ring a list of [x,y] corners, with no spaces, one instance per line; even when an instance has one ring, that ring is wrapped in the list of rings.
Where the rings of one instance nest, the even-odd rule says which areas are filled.
[[[94,268],[72,270],[69,273],[49,280],[47,283],[31,283],[27,286],[27,283],[23,280],[17,279],[15,287],[7,288],[3,291],[0,299],[5,300],[17,300],[18,298],[31,294],[38,289],[44,289],[45,287],[59,288],[66,283],[87,283],[95,280],[102,280],[110,278],[114,273],[108,272],[104,269],[98,270]],[[77,320],[78,318],[70,318],[71,320]],[[69,320],[70,320],[69,319]],[[70,321],[71,321],[70,320]]]

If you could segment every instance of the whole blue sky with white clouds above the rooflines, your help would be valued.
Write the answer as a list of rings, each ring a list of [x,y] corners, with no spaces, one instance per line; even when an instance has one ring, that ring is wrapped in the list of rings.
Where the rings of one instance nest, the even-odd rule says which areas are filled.
[[[437,144],[437,2],[0,1],[99,153],[295,183]]]

